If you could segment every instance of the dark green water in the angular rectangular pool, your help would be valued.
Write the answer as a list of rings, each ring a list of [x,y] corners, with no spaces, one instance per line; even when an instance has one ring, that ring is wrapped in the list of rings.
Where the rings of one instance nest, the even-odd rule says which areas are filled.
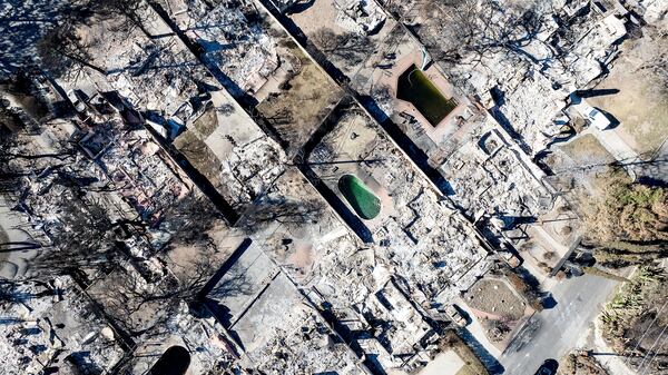
[[[458,105],[454,98],[445,98],[414,65],[399,76],[396,97],[415,106],[432,126],[441,122]]]

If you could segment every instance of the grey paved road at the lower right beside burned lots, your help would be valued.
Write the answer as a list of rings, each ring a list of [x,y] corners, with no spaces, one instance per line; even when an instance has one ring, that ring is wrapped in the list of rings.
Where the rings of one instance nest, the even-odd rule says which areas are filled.
[[[553,308],[536,314],[499,358],[503,374],[532,375],[547,358],[559,359],[587,330],[617,282],[584,275],[563,280],[552,288]]]

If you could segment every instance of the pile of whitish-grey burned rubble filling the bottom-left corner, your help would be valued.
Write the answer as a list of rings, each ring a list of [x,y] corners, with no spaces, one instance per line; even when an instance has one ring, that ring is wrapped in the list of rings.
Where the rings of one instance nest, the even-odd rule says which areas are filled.
[[[124,356],[122,343],[69,277],[50,283],[3,285],[0,355],[8,375],[67,374],[73,368],[110,371]]]

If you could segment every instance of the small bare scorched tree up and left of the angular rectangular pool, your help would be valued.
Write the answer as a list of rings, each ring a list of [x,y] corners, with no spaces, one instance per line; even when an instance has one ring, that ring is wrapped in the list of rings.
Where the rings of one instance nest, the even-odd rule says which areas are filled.
[[[325,55],[333,59],[354,66],[375,49],[375,43],[366,36],[355,32],[336,33],[332,29],[317,29],[311,40]]]

